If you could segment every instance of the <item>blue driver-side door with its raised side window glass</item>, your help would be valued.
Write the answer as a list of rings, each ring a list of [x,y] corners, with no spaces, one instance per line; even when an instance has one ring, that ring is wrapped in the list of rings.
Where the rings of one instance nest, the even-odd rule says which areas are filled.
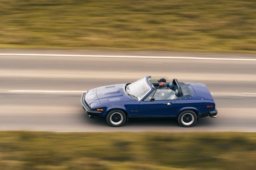
[[[170,90],[154,90],[140,102],[140,117],[173,117],[176,115],[175,100],[170,99]],[[172,94],[173,95],[173,94]],[[149,98],[154,101],[150,101]]]

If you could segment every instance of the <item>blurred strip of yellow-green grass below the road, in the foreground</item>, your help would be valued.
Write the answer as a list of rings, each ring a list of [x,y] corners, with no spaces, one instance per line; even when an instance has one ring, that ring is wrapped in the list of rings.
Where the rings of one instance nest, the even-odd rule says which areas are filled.
[[[256,133],[0,131],[1,170],[255,170]]]

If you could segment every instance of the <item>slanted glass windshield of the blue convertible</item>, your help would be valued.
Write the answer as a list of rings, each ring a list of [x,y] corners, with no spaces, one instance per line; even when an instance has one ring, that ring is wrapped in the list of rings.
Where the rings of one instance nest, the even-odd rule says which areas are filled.
[[[145,77],[127,86],[126,92],[134,98],[140,100],[150,91],[150,87],[145,81]]]

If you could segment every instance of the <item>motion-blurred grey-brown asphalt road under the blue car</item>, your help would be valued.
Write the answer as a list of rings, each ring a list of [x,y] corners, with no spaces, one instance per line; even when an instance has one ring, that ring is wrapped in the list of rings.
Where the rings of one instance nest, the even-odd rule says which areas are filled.
[[[0,130],[256,132],[256,55],[253,54],[61,50],[0,50],[0,53]],[[193,59],[198,57],[205,59]],[[90,119],[82,109],[82,92],[108,84],[134,82],[146,75],[205,83],[216,102],[217,118],[201,118],[198,125],[190,128],[180,127],[174,118],[129,119],[123,127],[109,127],[105,119]]]

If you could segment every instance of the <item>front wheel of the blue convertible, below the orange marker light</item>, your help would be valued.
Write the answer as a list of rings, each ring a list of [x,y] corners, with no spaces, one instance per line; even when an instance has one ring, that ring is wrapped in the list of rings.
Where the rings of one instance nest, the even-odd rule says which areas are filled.
[[[108,113],[106,119],[110,126],[119,127],[124,125],[126,114],[122,110],[112,110]]]

